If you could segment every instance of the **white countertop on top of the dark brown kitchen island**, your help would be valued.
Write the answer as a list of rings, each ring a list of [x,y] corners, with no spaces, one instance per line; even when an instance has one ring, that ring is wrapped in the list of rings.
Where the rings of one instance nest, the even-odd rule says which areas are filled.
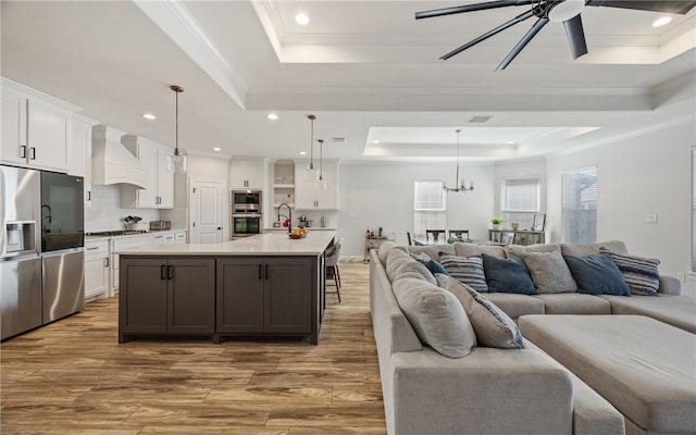
[[[332,239],[335,231],[307,233],[294,240],[286,233],[266,233],[222,244],[160,244],[135,249],[116,250],[120,254],[142,256],[319,256]]]

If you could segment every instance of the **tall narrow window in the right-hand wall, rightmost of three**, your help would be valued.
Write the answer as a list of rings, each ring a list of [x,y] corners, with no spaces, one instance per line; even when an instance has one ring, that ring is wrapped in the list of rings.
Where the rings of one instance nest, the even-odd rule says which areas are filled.
[[[561,182],[563,241],[597,241],[597,167],[567,172]]]

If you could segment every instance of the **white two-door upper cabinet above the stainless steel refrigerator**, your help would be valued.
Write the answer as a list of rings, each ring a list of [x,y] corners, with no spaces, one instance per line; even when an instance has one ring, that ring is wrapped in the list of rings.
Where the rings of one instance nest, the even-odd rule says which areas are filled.
[[[3,78],[0,161],[67,172],[73,113],[78,110],[76,105]]]

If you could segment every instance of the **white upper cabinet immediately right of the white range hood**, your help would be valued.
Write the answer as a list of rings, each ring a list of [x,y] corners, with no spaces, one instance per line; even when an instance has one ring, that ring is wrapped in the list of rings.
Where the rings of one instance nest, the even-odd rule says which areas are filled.
[[[121,189],[125,208],[174,208],[174,150],[142,137],[126,135],[121,142],[137,158],[147,172],[147,188]]]

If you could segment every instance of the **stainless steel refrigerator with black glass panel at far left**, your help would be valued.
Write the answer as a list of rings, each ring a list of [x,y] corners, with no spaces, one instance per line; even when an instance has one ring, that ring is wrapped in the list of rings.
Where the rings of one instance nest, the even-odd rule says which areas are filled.
[[[0,339],[85,304],[83,178],[0,165]]]

